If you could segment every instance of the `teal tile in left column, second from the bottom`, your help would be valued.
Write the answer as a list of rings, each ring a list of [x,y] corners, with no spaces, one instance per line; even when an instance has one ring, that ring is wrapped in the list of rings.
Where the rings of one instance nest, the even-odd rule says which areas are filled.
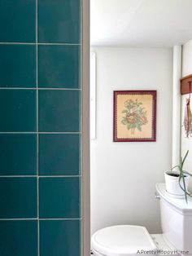
[[[37,218],[37,179],[0,178],[0,218]]]

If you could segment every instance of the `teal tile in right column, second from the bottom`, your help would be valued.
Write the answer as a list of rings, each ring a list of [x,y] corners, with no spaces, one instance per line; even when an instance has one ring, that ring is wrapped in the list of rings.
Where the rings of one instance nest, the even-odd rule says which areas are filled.
[[[40,218],[80,218],[78,177],[40,178]]]

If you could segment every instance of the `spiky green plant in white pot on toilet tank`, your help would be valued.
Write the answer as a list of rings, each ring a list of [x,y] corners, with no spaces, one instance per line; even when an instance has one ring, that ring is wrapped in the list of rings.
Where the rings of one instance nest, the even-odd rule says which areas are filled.
[[[185,196],[185,201],[187,203],[187,196],[192,197],[190,192],[188,192],[188,183],[189,178],[192,177],[188,171],[183,170],[185,159],[189,153],[189,150],[186,152],[185,157],[180,161],[180,165],[172,167],[171,170],[168,170],[164,173],[166,190],[172,196]],[[177,168],[177,171],[175,169]]]

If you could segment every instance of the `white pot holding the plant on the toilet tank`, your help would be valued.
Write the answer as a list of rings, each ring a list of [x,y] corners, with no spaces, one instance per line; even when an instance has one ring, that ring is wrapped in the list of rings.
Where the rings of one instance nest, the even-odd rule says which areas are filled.
[[[168,193],[172,196],[185,196],[185,192],[180,188],[179,185],[179,177],[171,176],[169,174],[178,174],[177,172],[173,171],[166,171],[164,173],[165,178],[165,186]],[[188,183],[189,183],[189,175],[185,176],[185,188],[188,191]],[[183,180],[181,179],[181,187],[184,188]]]

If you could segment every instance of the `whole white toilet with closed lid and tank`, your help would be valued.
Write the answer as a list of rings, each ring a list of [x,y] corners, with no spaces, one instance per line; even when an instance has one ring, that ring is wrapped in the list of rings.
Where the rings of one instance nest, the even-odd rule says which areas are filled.
[[[94,256],[192,255],[192,198],[173,198],[165,184],[158,183],[163,234],[151,235],[146,227],[105,227],[91,238]],[[187,252],[188,251],[188,252]]]

